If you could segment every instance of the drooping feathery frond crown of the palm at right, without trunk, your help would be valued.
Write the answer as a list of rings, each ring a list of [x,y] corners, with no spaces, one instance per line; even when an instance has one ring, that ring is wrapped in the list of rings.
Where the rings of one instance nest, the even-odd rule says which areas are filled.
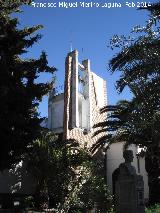
[[[153,8],[154,11],[149,10],[154,15],[145,26],[134,27],[128,37],[116,35],[110,42],[111,48],[120,49],[110,60],[111,72],[121,74],[117,90],[122,92],[128,87],[133,98],[119,102],[108,114],[108,120],[114,121],[122,140],[142,146],[149,146],[158,136],[158,131],[154,131],[154,118],[159,114],[160,104],[160,29],[159,16],[155,16],[158,10]]]

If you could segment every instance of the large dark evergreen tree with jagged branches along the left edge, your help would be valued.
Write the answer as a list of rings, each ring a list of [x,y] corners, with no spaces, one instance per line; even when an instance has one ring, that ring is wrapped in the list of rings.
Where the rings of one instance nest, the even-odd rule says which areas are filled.
[[[0,0],[1,171],[19,162],[37,138],[42,122],[37,108],[52,83],[35,80],[41,73],[56,70],[48,66],[45,52],[39,59],[24,59],[27,48],[41,38],[35,32],[42,26],[18,29],[18,19],[12,18],[11,13],[19,12],[20,2]]]

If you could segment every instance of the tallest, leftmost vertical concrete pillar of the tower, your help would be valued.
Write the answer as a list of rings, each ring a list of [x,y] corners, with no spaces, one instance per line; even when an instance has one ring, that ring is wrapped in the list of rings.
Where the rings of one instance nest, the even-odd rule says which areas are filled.
[[[78,51],[74,50],[66,57],[64,83],[64,133],[68,139],[68,131],[79,127],[78,115]]]

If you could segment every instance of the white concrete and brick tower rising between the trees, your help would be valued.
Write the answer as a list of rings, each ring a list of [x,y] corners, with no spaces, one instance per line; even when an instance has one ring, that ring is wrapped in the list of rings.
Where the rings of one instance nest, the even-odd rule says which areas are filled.
[[[91,71],[90,60],[78,60],[78,51],[68,53],[65,61],[64,93],[49,96],[48,128],[63,138],[75,139],[91,146],[102,135],[92,137],[94,124],[102,122],[105,115],[100,108],[106,102],[105,81]]]

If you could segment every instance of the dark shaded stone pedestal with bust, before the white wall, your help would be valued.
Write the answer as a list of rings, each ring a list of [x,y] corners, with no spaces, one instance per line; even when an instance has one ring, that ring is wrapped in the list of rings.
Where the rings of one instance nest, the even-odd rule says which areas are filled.
[[[130,151],[127,150],[128,154],[131,154]],[[136,174],[131,159],[125,159],[125,163],[119,166],[119,175],[115,183],[115,205],[116,213],[145,212],[143,177]]]

